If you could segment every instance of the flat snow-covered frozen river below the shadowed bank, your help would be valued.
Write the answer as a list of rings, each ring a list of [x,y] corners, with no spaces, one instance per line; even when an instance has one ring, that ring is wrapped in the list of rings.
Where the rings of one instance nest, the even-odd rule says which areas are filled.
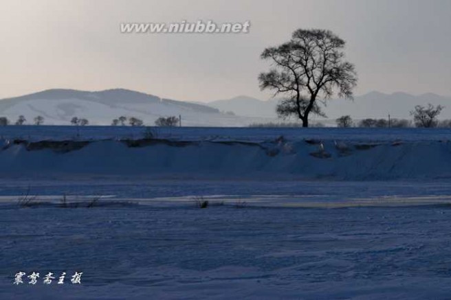
[[[1,183],[1,299],[451,293],[446,181]],[[35,205],[18,204],[25,194],[38,195]],[[96,196],[102,198],[88,208]],[[196,196],[210,206],[195,207]],[[19,271],[83,272],[83,284],[15,286]]]

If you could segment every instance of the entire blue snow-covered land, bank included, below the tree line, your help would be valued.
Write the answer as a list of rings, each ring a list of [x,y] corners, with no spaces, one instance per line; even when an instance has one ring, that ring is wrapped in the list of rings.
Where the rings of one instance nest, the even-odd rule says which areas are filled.
[[[0,299],[451,295],[450,130],[74,130],[0,128]]]

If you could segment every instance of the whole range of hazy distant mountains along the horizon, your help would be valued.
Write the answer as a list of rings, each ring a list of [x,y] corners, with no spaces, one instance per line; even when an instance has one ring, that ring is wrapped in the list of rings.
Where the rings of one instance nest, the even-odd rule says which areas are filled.
[[[276,118],[277,102],[241,95],[204,104],[168,100],[126,89],[95,92],[50,89],[0,100],[0,117],[8,117],[14,122],[19,115],[24,115],[30,124],[34,117],[42,115],[45,124],[69,124],[76,116],[88,119],[90,124],[109,125],[113,119],[124,115],[153,125],[160,116],[181,115],[184,126],[248,126],[252,123],[281,122]],[[409,112],[415,105],[428,103],[445,106],[440,118],[451,119],[451,97],[434,93],[410,95],[373,91],[357,96],[353,101],[328,100],[325,112],[329,119],[314,117],[314,120],[334,124],[334,120],[342,115],[364,119],[386,118],[388,114],[393,118],[411,119]]]

